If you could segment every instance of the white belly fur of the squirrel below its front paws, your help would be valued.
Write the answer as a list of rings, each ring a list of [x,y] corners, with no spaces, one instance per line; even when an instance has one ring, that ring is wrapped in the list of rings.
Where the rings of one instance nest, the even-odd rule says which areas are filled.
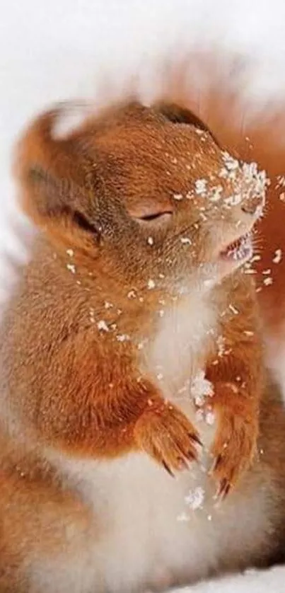
[[[31,593],[144,593],[207,577],[258,548],[268,527],[267,492],[252,478],[217,504],[197,464],[173,479],[144,454],[117,461],[57,459],[70,485],[93,509],[86,546],[38,565]],[[256,483],[257,480],[257,483]],[[84,534],[79,534],[84,541]],[[71,553],[69,553],[71,548]],[[42,585],[44,584],[44,587]]]

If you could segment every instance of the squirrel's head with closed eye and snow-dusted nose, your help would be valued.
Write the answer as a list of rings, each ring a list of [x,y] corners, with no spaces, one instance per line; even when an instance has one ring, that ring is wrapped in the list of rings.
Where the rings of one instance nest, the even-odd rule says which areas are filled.
[[[250,258],[267,185],[255,163],[178,105],[117,105],[57,134],[71,109],[37,117],[16,158],[23,210],[55,251],[72,248],[122,285],[178,292]]]

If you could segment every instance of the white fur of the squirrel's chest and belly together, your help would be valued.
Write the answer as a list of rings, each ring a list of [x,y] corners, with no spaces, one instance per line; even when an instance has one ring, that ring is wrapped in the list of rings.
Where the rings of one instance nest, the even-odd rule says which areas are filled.
[[[199,299],[173,307],[142,358],[165,397],[192,421],[189,391],[181,397],[181,390],[199,366],[197,352],[203,352],[214,323],[213,312]],[[212,430],[201,422],[204,442]],[[252,486],[246,505],[238,494],[217,505],[204,461],[173,479],[144,454],[105,462],[57,457],[71,488],[93,509],[94,528],[81,555],[63,554],[56,563],[37,567],[35,591],[43,583],[45,593],[141,593],[182,585],[207,576],[221,556],[258,545],[266,493],[257,494]]]

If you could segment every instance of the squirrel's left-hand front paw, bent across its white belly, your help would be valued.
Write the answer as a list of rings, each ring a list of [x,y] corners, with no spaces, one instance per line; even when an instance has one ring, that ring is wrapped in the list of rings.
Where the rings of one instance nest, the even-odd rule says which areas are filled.
[[[197,460],[197,444],[201,445],[194,426],[175,405],[149,401],[148,408],[137,420],[134,437],[139,449],[146,451],[173,476],[175,471]]]

